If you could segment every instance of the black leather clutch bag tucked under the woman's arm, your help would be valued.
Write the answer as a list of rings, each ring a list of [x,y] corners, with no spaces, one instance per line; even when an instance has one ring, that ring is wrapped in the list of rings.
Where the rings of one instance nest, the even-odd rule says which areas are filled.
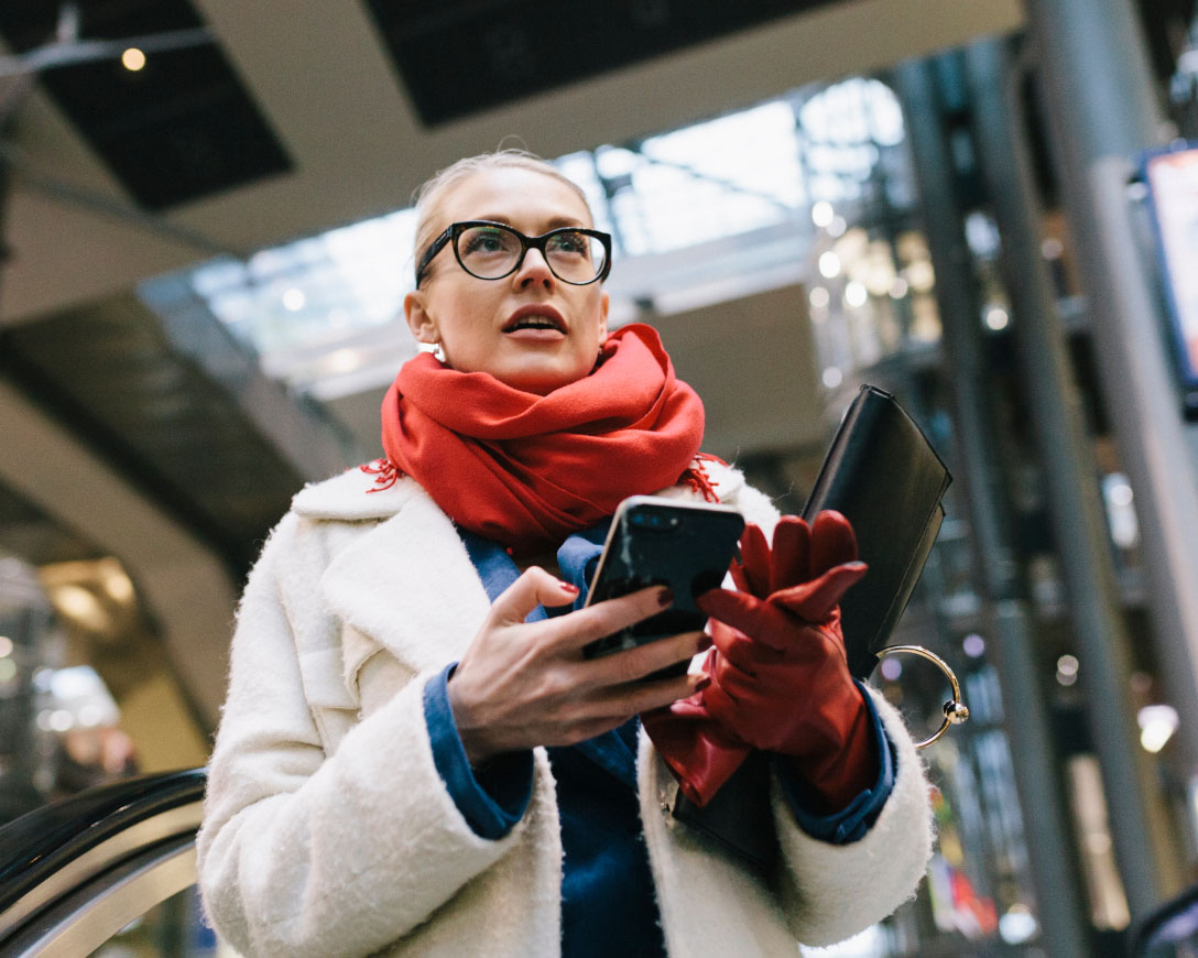
[[[889,393],[863,386],[833,438],[803,517],[822,509],[853,525],[865,577],[841,601],[854,677],[877,665],[944,520],[940,499],[952,477],[915,422]],[[673,814],[757,868],[778,853],[769,810],[768,756],[755,753],[702,808],[682,793]]]

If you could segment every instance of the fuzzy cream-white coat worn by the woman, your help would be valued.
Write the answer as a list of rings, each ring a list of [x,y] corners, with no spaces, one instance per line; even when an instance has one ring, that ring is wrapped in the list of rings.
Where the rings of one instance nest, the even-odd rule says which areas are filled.
[[[708,472],[721,502],[773,528],[776,510],[738,472]],[[500,841],[474,835],[432,763],[422,692],[477,632],[483,584],[412,479],[371,487],[353,469],[304,489],[249,577],[198,838],[208,916],[246,958],[559,954],[545,751]],[[671,815],[677,786],[642,733],[641,818],[672,958],[794,956],[797,940],[839,941],[914,892],[931,851],[927,786],[876,698],[897,753],[881,818],[859,842],[827,844],[775,787],[783,865],[768,880]]]

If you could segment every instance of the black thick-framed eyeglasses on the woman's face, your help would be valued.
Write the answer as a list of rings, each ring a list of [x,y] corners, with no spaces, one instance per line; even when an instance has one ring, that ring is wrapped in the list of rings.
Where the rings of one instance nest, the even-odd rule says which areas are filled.
[[[562,226],[540,236],[525,236],[506,223],[468,219],[450,223],[432,241],[416,267],[417,286],[432,257],[447,243],[453,243],[453,254],[461,268],[478,279],[503,279],[512,275],[520,268],[530,249],[540,251],[555,277],[575,286],[606,279],[611,272],[611,236],[599,230]]]

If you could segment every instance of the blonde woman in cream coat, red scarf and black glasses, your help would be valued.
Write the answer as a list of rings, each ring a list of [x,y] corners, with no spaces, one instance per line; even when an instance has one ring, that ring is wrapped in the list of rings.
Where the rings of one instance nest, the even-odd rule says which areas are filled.
[[[573,183],[488,154],[435,177],[418,212],[404,307],[440,358],[388,393],[386,460],[296,496],[241,604],[198,839],[217,929],[247,958],[794,954],[889,914],[931,841],[910,739],[835,642],[813,709],[770,685],[800,666],[768,643],[807,619],[833,635],[836,613],[780,612],[769,588],[810,598],[807,580],[859,575],[852,557],[824,548],[839,558],[816,568],[803,539],[794,560],[807,533],[782,523],[773,553],[746,547],[749,578],[773,584],[712,594],[704,671],[645,680],[702,633],[583,660],[671,601],[574,607],[619,499],[719,498],[767,532],[778,514],[696,459],[702,407],[655,333],[607,333],[610,241]],[[757,698],[768,741],[740,708]],[[750,745],[780,753],[770,874],[671,814],[671,766],[703,799],[696,762]]]

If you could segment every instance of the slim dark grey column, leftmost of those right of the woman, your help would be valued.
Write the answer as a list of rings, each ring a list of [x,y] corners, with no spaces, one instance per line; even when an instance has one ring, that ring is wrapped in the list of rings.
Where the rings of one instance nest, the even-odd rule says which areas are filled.
[[[994,411],[981,353],[980,303],[933,72],[930,62],[912,62],[900,67],[895,77],[914,153],[944,325],[944,360],[957,435],[954,471],[964,486],[963,499],[969,507],[990,648],[1002,679],[1004,724],[1011,741],[1043,944],[1054,958],[1084,958],[1090,948],[1081,881],[1054,766],[1031,617],[1005,532],[1012,523],[1006,515],[1003,466],[993,441]]]

